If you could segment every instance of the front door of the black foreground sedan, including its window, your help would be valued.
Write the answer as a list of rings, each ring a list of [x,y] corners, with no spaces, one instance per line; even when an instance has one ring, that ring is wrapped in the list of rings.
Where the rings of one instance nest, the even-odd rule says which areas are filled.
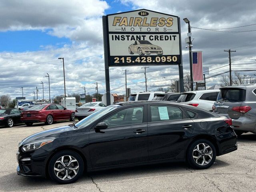
[[[93,168],[148,161],[146,106],[128,107],[102,122],[108,128],[90,130],[90,158]]]

